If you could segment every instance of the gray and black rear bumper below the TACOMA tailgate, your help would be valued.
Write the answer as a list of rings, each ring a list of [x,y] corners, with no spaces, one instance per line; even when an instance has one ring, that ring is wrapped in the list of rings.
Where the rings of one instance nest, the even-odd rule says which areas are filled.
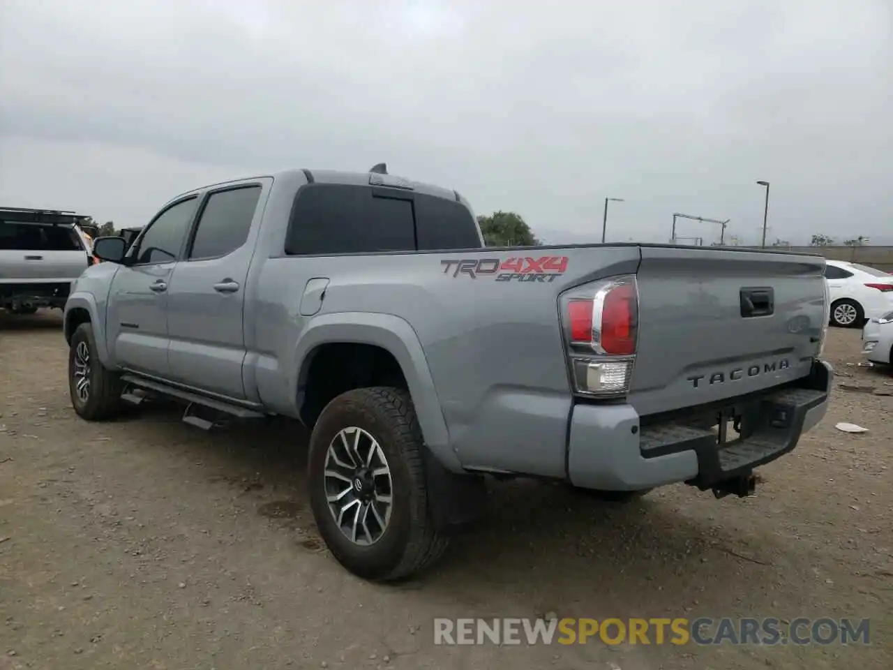
[[[709,489],[795,448],[827,412],[832,375],[829,364],[816,361],[796,388],[731,398],[729,405],[705,410],[741,418],[741,439],[722,447],[709,425],[694,420],[697,412],[690,421],[647,423],[629,405],[574,406],[568,478],[586,489],[643,490],[675,482]]]

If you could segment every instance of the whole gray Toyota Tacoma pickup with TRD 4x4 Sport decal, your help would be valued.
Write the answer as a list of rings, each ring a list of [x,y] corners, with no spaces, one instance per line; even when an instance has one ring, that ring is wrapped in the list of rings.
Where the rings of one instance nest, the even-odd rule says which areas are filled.
[[[429,565],[485,475],[745,496],[827,408],[819,256],[484,247],[453,190],[309,170],[197,188],[93,250],[65,307],[76,412],[299,420],[319,532],[367,579]]]

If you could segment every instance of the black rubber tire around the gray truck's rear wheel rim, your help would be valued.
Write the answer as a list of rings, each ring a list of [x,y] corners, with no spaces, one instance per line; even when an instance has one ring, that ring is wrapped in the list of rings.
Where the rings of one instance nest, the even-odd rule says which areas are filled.
[[[361,545],[338,526],[327,500],[324,472],[332,440],[357,427],[378,441],[390,470],[390,517],[378,540]],[[405,579],[433,564],[448,540],[432,522],[422,466],[423,442],[413,401],[401,389],[354,389],[322,410],[310,438],[307,482],[322,539],[341,565],[363,579]],[[374,485],[373,485],[374,486]]]

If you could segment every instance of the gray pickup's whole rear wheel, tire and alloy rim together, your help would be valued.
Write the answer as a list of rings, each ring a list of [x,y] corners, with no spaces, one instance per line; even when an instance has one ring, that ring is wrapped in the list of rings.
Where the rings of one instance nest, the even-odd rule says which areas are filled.
[[[310,503],[332,555],[357,576],[402,579],[447,548],[430,515],[423,448],[404,390],[354,389],[322,410],[310,438]]]

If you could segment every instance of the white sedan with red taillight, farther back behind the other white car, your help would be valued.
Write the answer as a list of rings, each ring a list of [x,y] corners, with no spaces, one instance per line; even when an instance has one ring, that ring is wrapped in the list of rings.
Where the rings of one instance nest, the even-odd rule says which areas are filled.
[[[865,319],[893,311],[893,274],[868,265],[827,261],[825,279],[831,303],[830,322],[861,328]]]

